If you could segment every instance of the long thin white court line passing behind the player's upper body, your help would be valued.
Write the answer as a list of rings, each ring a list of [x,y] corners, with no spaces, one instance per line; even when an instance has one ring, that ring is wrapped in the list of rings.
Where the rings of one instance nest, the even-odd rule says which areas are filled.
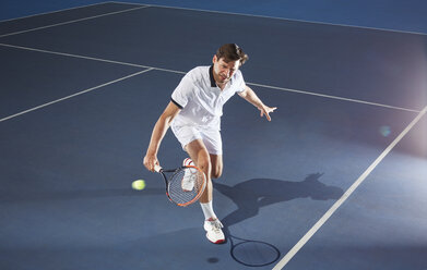
[[[114,64],[122,64],[122,65],[129,65],[129,66],[152,69],[152,70],[156,70],[156,71],[164,71],[164,72],[170,72],[170,73],[186,74],[186,72],[182,72],[182,71],[174,71],[174,70],[162,69],[162,68],[155,68],[155,66],[149,66],[149,65],[142,65],[142,64],[134,64],[134,63],[127,63],[127,62],[120,62],[120,61],[112,61],[112,60],[106,60],[106,59],[99,59],[99,58],[92,58],[92,57],[85,57],[85,56],[78,56],[78,54],[71,54],[71,53],[64,53],[64,52],[57,52],[57,51],[34,49],[34,48],[22,47],[22,46],[15,46],[15,45],[0,44],[0,46],[10,47],[10,48],[15,48],[15,49],[22,49],[22,50],[29,50],[29,51],[37,51],[37,52],[57,54],[57,56],[63,56],[63,57],[71,57],[71,58],[80,58],[80,59],[86,59],[86,60],[93,60],[93,61],[100,61],[100,62],[107,62],[107,63],[114,63]],[[262,85],[262,84],[256,84],[256,83],[247,83],[247,85],[253,85],[253,86],[258,86],[258,87],[277,89],[277,90],[283,90],[283,91],[298,93],[298,94],[304,94],[304,95],[311,95],[311,96],[317,96],[317,97],[322,97],[322,98],[329,98],[329,99],[337,99],[337,100],[349,101],[349,102],[356,102],[356,103],[370,105],[370,106],[382,107],[382,108],[389,108],[389,109],[394,109],[394,110],[402,110],[402,111],[410,111],[410,112],[419,112],[418,110],[413,110],[413,109],[407,109],[407,108],[402,108],[402,107],[394,107],[394,106],[389,106],[389,105],[369,102],[369,101],[365,101],[365,100],[357,100],[357,99],[351,99],[351,98],[343,98],[343,97],[337,97],[337,96],[330,96],[330,95],[317,94],[317,93],[311,93],[311,91],[296,90],[296,89],[289,89],[289,88],[277,87],[277,86],[271,86],[271,85]]]

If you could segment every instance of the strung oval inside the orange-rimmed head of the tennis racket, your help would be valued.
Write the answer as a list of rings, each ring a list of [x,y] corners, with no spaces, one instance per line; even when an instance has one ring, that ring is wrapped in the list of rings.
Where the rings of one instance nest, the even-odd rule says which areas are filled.
[[[201,196],[204,185],[202,172],[192,168],[179,170],[169,180],[169,197],[178,205],[189,205]]]

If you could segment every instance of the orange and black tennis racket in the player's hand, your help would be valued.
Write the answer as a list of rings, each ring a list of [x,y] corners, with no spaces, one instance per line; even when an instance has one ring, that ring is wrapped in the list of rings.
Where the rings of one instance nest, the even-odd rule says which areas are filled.
[[[206,176],[197,167],[185,165],[165,170],[155,165],[154,170],[162,174],[166,184],[166,196],[177,206],[188,206],[197,201],[206,187]]]

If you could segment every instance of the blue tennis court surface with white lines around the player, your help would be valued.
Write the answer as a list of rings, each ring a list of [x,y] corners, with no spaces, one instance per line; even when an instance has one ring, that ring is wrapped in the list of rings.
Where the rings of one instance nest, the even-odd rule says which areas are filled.
[[[182,75],[225,42],[278,109],[224,107],[214,207],[234,240],[213,245],[200,207],[170,204],[142,157]],[[0,268],[427,269],[426,48],[119,2],[0,22]],[[186,158],[170,131],[158,158]]]

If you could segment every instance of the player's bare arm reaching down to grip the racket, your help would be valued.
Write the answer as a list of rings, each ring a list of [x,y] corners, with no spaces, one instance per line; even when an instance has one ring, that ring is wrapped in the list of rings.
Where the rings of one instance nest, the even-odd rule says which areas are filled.
[[[162,139],[165,137],[171,121],[179,112],[180,109],[178,106],[170,101],[154,125],[149,149],[144,157],[144,165],[149,171],[154,172],[154,165],[159,165],[157,160],[158,148],[161,147]]]

